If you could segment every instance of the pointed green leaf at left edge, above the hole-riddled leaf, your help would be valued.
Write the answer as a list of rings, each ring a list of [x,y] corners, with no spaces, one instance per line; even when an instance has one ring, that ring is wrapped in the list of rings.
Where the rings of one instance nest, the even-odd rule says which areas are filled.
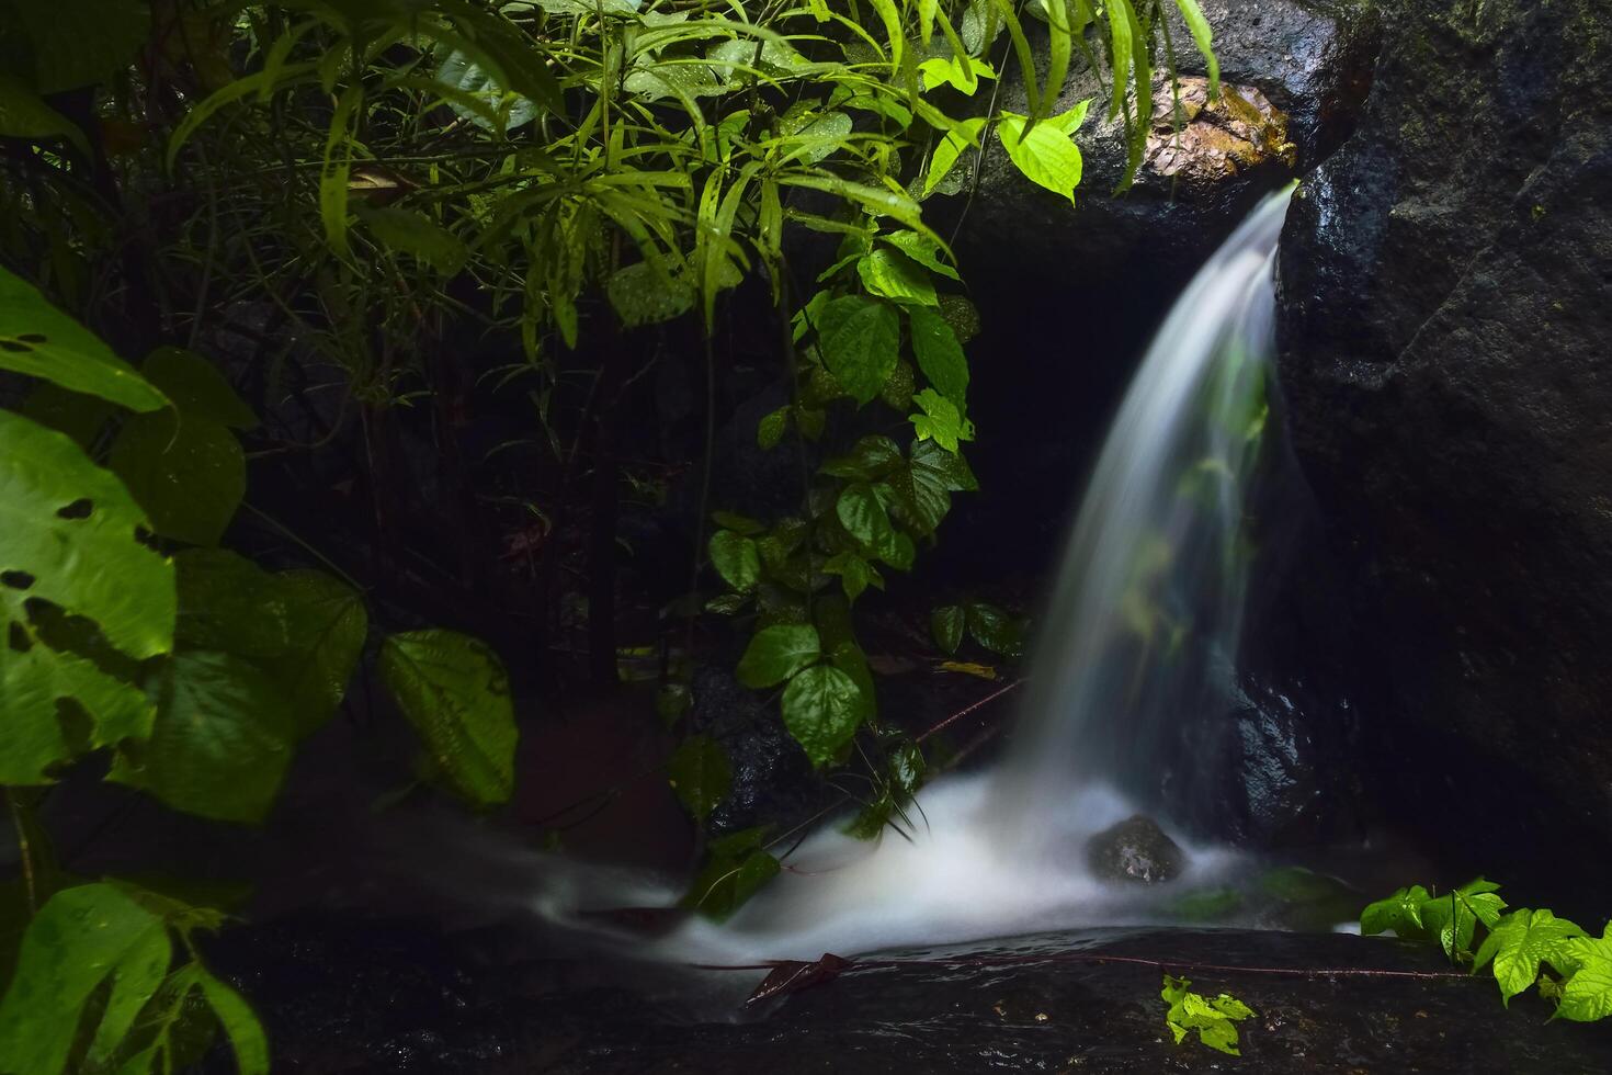
[[[127,363],[27,280],[0,268],[0,369],[44,377],[131,411],[168,406]]]

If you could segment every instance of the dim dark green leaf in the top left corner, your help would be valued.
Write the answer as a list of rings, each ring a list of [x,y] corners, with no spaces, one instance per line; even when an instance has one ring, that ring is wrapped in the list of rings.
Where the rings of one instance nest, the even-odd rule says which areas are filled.
[[[11,0],[0,15],[15,16],[27,37],[34,89],[60,93],[103,82],[134,63],[150,32],[145,8],[131,0]]]

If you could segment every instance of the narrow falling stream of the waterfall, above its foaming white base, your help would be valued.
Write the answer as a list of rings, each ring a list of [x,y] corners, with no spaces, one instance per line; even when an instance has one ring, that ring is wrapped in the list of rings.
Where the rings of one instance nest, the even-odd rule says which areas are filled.
[[[1148,809],[1191,809],[1170,774],[1180,722],[1236,667],[1275,345],[1277,192],[1175,301],[1125,395],[1080,504],[1033,654],[1030,696],[995,795],[1035,816],[1070,782]],[[1027,825],[1033,830],[1035,825]],[[1030,833],[1033,836],[1033,832]]]

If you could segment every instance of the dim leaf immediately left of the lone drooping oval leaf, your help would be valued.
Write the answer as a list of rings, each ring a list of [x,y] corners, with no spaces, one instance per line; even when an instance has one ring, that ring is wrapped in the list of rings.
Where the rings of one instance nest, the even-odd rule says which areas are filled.
[[[369,612],[351,587],[322,571],[282,571],[276,579],[290,648],[263,664],[290,699],[303,737],[342,704],[369,637]]]

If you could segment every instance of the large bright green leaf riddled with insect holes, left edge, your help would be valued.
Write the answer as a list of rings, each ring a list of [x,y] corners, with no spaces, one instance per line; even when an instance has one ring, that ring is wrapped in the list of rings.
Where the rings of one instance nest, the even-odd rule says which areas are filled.
[[[87,617],[135,661],[172,650],[174,571],[137,540],[145,516],[68,437],[0,409],[0,783],[44,783],[71,757],[58,703],[90,717],[89,746],[150,732],[143,691],[52,650],[29,600]]]

